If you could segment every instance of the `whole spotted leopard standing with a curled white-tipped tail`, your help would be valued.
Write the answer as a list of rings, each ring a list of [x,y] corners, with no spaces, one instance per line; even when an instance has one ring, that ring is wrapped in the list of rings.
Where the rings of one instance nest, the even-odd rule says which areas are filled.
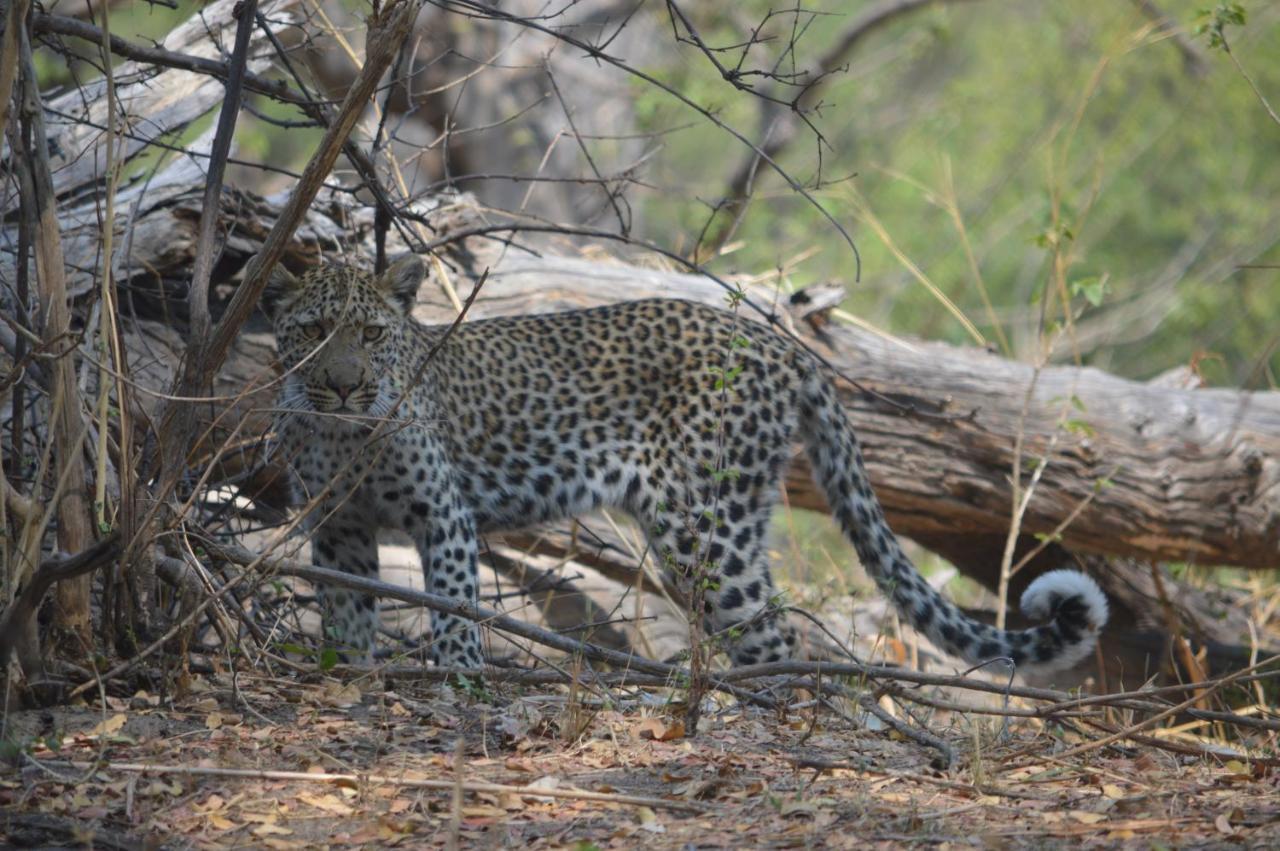
[[[829,367],[794,335],[678,298],[426,325],[412,316],[426,274],[412,253],[381,274],[340,261],[269,274],[275,450],[311,505],[317,566],[375,578],[378,531],[397,530],[426,590],[475,605],[481,536],[614,509],[664,568],[698,578],[695,617],[733,664],[794,658],[767,532],[799,444],[864,569],[936,648],[1019,673],[1092,653],[1107,599],[1085,573],[1036,578],[1020,605],[1037,626],[1002,630],[916,571]],[[371,659],[376,599],[324,585],[317,598],[325,635]],[[436,665],[485,664],[471,619],[434,612],[429,640]]]

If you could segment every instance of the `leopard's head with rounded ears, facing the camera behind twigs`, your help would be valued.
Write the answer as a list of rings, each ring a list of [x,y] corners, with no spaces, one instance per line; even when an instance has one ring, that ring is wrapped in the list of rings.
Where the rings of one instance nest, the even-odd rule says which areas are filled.
[[[256,258],[255,261],[256,262]],[[398,398],[396,369],[426,266],[416,255],[381,275],[323,265],[301,276],[276,265],[262,293],[284,366],[282,407],[383,416]]]

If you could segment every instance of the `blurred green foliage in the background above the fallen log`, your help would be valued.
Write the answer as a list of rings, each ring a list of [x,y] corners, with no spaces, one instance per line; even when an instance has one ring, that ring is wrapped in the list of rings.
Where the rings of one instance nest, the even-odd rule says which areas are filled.
[[[756,18],[769,8],[740,5]],[[831,17],[804,33],[800,54],[820,54],[872,5],[827,6]],[[1194,35],[1203,8],[1203,0],[1161,5],[1192,54],[1138,3],[1121,0],[956,3],[904,17],[850,56],[814,119],[829,143],[823,178],[855,175],[814,195],[854,237],[861,280],[833,228],[776,175],[762,178],[731,242],[739,247],[712,267],[782,266],[796,284],[840,282],[845,306],[884,329],[974,342],[892,244],[983,340],[1036,360],[1039,302],[1057,283],[1059,261],[1074,333],[1064,329],[1055,360],[1137,379],[1187,365],[1212,384],[1275,388],[1280,124],[1230,56]],[[1228,44],[1274,105],[1280,4],[1244,10],[1244,24],[1228,27]],[[740,26],[703,12],[704,36],[741,40]],[[652,70],[717,106],[726,122],[754,127],[753,99],[721,81],[696,50],[678,56]],[[639,104],[652,128],[692,115],[649,90]],[[653,177],[687,193],[650,201],[646,221],[660,242],[684,239],[687,248],[708,215],[687,196],[710,201],[723,192],[740,152],[723,138],[708,142],[714,133],[698,127],[667,137]],[[709,145],[717,156],[707,156]],[[813,180],[818,145],[797,138],[780,161]],[[1060,302],[1050,307],[1048,319],[1062,322]]]

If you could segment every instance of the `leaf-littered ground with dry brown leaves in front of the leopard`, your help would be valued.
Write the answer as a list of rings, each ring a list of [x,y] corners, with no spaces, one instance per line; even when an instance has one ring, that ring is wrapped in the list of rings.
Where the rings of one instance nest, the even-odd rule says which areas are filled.
[[[707,699],[690,736],[675,703],[684,692],[667,688],[179,682],[175,697],[10,713],[4,738],[23,751],[8,755],[20,769],[0,774],[0,842],[585,851],[1275,847],[1280,837],[1274,744],[1254,751],[1270,758],[1233,758],[1197,741],[1213,731],[1196,724],[1151,746],[934,710],[916,720],[955,751],[940,768],[934,750],[877,718],[803,694],[786,710]]]

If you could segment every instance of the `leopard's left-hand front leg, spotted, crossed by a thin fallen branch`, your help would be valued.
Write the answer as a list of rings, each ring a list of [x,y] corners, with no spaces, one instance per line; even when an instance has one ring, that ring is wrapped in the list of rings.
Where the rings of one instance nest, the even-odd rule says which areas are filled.
[[[353,512],[338,512],[315,530],[311,558],[320,567],[365,578],[378,578],[375,529]],[[320,585],[320,622],[325,641],[352,662],[371,662],[378,639],[378,599],[347,589]]]

